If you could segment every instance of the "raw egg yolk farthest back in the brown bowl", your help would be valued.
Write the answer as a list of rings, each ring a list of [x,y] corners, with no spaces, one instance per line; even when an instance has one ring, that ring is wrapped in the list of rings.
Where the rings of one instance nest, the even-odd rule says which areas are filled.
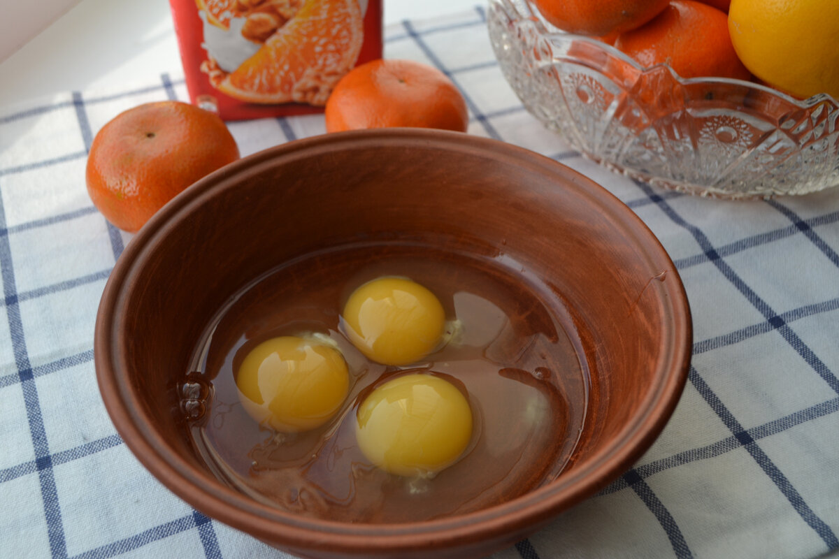
[[[379,277],[358,287],[343,318],[352,344],[383,365],[422,359],[446,329],[446,312],[434,293],[402,277]]]

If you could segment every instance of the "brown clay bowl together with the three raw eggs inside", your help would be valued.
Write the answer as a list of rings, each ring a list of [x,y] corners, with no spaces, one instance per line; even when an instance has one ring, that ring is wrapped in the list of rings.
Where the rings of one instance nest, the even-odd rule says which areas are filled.
[[[117,262],[96,373],[141,463],[300,556],[481,556],[618,478],[690,360],[641,220],[455,132],[290,142],[173,199]]]

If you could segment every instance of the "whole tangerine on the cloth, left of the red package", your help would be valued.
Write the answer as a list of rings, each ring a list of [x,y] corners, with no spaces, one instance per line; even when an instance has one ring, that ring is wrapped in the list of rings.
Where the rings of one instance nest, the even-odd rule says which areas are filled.
[[[136,231],[180,191],[239,158],[221,118],[179,101],[123,111],[96,133],[87,192],[113,225]]]

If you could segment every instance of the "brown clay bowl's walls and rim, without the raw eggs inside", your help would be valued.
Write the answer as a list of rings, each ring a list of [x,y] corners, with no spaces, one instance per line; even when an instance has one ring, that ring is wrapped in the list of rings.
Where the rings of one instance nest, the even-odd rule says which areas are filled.
[[[360,238],[471,253],[562,301],[589,384],[581,437],[555,479],[468,514],[358,524],[289,514],[211,473],[179,394],[196,340],[254,278]],[[389,129],[271,148],[180,194],[117,262],[95,349],[117,431],[195,509],[300,556],[463,557],[512,545],[623,474],[670,418],[690,344],[672,261],[612,194],[503,142]]]

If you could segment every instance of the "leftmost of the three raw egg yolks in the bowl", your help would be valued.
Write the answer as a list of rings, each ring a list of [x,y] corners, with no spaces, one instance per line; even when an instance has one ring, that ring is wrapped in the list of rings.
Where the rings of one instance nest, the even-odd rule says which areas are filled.
[[[281,336],[258,344],[236,375],[239,400],[260,424],[280,432],[318,427],[335,415],[349,391],[347,363],[315,340]]]

